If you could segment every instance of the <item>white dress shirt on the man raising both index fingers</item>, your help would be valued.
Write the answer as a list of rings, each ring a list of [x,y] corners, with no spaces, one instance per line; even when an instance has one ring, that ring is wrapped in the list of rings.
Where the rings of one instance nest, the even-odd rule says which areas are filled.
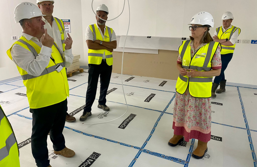
[[[35,42],[38,46],[41,47],[41,51],[35,58],[34,54],[31,51],[25,49],[18,44],[14,44],[11,49],[12,60],[17,66],[27,71],[29,75],[39,76],[50,62],[52,48],[43,46],[42,43],[37,39],[37,37],[33,37],[24,32],[22,32],[22,36],[24,36],[28,41],[31,40]],[[66,64],[71,64],[73,61],[72,50],[65,50],[64,55],[66,58],[64,62],[65,66]]]

